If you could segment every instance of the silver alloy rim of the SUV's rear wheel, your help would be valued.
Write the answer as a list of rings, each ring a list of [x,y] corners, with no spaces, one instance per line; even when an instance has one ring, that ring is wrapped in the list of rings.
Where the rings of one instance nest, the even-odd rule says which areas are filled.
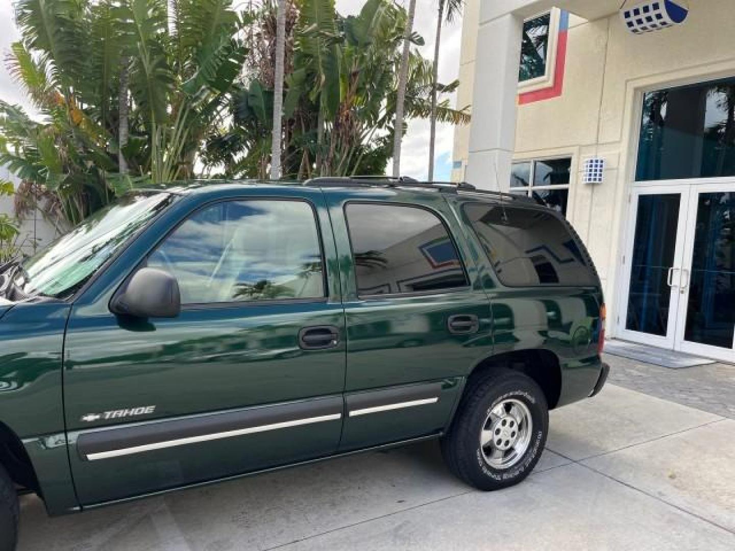
[[[480,433],[480,449],[494,469],[517,464],[531,444],[531,411],[525,403],[508,398],[495,404],[487,414]]]

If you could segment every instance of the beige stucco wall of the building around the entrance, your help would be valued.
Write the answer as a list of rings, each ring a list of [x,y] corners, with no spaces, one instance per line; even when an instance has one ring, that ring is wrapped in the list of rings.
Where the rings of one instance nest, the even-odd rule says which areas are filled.
[[[467,2],[458,91],[462,105],[472,102],[478,28],[473,14],[481,1]],[[558,4],[564,7],[564,0]],[[562,96],[518,107],[515,159],[573,156],[567,217],[595,259],[612,315],[642,93],[735,76],[735,1],[692,0],[689,7],[685,24],[647,35],[625,30],[617,13],[594,21],[572,17]],[[468,129],[457,129],[454,160],[466,162],[468,150]],[[593,155],[606,159],[605,179],[597,186],[582,184],[580,177],[584,159]],[[462,176],[463,170],[453,171],[454,179]]]

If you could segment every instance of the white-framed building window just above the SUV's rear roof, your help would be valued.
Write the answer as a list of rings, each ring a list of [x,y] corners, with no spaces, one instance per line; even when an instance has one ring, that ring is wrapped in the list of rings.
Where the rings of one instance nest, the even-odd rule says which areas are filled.
[[[514,162],[511,168],[510,191],[531,198],[540,198],[547,206],[566,216],[571,170],[570,157]]]

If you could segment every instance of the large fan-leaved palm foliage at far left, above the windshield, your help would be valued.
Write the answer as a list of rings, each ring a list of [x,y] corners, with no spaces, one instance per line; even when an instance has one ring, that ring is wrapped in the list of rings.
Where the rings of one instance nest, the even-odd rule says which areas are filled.
[[[21,40],[8,66],[43,118],[0,101],[0,164],[54,192],[72,223],[120,190],[193,177],[245,60],[232,0],[18,0],[15,8]]]

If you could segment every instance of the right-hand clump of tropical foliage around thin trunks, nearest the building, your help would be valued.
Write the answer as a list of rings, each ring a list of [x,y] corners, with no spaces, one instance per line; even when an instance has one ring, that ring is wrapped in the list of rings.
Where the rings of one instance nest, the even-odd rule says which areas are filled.
[[[284,98],[284,170],[287,177],[383,174],[392,154],[395,88],[406,26],[406,12],[390,0],[368,0],[358,15],[343,17],[334,0],[295,0],[292,71]],[[272,7],[255,14],[259,36],[268,35]],[[419,46],[423,39],[412,35]],[[270,41],[266,40],[266,43]],[[264,54],[267,57],[267,54]],[[406,90],[406,115],[431,115],[431,62],[412,52]],[[246,75],[247,90],[270,92],[268,73]],[[451,93],[457,82],[440,84]],[[245,88],[243,88],[245,90]],[[272,94],[272,92],[270,92]],[[209,136],[205,162],[223,168],[223,176],[265,176],[269,121],[243,116],[249,99],[235,93],[229,128]],[[465,109],[440,103],[438,119],[466,123]],[[405,132],[405,128],[401,129]]]

